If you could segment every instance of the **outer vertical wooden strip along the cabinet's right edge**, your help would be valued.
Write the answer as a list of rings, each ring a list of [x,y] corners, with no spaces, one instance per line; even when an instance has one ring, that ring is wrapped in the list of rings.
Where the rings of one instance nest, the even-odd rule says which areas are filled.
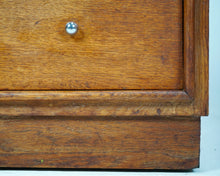
[[[209,0],[196,0],[195,114],[209,113]]]

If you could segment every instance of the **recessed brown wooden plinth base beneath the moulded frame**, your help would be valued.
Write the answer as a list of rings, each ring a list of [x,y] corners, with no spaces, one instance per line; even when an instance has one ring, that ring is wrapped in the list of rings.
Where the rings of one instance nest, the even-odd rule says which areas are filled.
[[[0,167],[192,169],[200,118],[26,117],[0,121]]]

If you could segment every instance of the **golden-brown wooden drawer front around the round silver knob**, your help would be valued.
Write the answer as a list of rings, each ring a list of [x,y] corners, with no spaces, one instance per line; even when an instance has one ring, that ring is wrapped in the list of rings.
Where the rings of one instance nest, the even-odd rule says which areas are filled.
[[[182,0],[1,0],[0,89],[183,89],[182,9]]]

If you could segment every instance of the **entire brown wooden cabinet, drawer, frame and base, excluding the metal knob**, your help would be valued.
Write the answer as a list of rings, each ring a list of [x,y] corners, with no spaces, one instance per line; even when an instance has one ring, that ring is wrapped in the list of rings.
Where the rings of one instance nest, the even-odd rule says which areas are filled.
[[[198,167],[209,1],[60,4],[0,0],[0,167]]]

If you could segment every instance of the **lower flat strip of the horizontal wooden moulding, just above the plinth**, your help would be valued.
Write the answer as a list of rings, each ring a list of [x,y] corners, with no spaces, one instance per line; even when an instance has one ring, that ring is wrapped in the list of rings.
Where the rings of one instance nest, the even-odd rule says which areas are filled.
[[[26,103],[17,102],[14,106],[5,104],[1,104],[0,107],[1,116],[102,116],[103,118],[105,116],[134,116],[135,118],[139,118],[138,116],[195,116],[193,105],[187,104],[130,106],[125,102],[124,106],[108,105],[108,103],[93,106],[91,103],[87,105],[86,101],[79,104],[73,102],[65,105],[63,103],[63,106],[56,106],[49,101],[45,103],[47,106],[44,103],[39,105],[29,101]]]

